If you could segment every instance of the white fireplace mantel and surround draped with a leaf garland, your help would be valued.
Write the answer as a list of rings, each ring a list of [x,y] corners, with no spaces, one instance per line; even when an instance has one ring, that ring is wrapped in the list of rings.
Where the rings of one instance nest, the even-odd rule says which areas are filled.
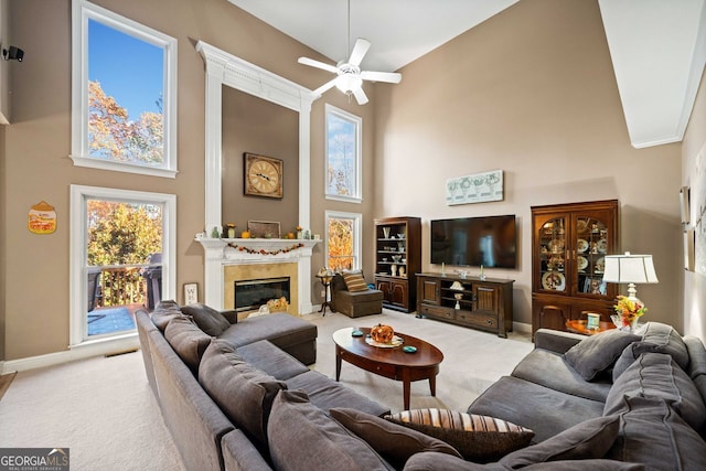
[[[321,240],[281,238],[199,238],[204,249],[204,302],[223,309],[224,272],[228,265],[297,264],[298,312],[311,312],[311,254]],[[234,247],[236,246],[236,247]],[[242,249],[240,249],[242,248]]]

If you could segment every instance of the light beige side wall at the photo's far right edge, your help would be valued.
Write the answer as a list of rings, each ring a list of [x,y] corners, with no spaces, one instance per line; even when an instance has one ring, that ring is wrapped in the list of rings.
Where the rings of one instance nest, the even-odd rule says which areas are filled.
[[[697,156],[700,162],[697,164]],[[682,183],[692,189],[691,225],[706,207],[706,75],[682,146]],[[702,228],[706,221],[702,220]],[[702,240],[706,237],[702,236]],[[704,247],[706,250],[706,247]],[[684,271],[684,333],[706,339],[706,274]]]

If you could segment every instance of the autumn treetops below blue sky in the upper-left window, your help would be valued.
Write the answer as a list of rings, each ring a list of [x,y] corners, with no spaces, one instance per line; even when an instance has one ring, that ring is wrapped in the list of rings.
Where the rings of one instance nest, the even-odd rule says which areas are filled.
[[[161,113],[145,111],[131,120],[128,110],[106,95],[99,82],[88,82],[88,148],[90,154],[128,163],[154,164],[164,159]]]

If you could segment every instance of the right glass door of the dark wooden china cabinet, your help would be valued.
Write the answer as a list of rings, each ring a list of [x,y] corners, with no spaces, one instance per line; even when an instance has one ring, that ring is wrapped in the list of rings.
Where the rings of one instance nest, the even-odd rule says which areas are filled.
[[[607,295],[603,269],[606,255],[610,247],[609,221],[601,215],[576,215],[575,222],[575,264],[576,282],[574,293],[581,296]]]

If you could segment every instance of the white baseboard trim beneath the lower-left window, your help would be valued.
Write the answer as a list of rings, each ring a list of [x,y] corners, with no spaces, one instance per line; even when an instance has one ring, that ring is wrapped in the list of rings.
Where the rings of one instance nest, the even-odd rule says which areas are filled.
[[[137,335],[137,332],[135,332],[115,339],[106,339],[72,346],[69,347],[69,350],[63,352],[29,356],[26,358],[7,360],[0,363],[0,373],[7,374],[41,368],[44,366],[54,366],[62,363],[73,362],[75,360],[115,354],[127,350],[135,350],[139,349],[139,346],[140,340]]]

